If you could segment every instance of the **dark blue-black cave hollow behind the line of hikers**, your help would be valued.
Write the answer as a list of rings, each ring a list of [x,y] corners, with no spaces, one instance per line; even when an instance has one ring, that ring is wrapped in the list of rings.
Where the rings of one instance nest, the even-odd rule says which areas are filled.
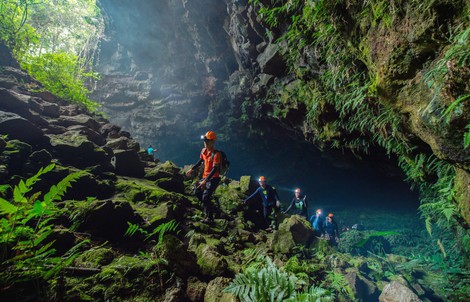
[[[196,162],[202,142],[194,137],[192,142],[173,139],[171,147],[160,141],[171,148],[164,150],[167,158],[160,160],[171,160],[179,166]],[[320,151],[272,123],[260,128],[259,134],[222,137],[226,139],[218,140],[216,149],[223,150],[231,162],[227,177],[267,177],[278,191],[283,209],[289,206],[295,188],[301,188],[307,195],[309,216],[322,208],[342,213],[348,225],[372,221],[372,217],[377,222],[395,216],[419,220],[418,192],[405,181],[397,159],[382,149],[363,154],[362,158],[350,151]],[[376,228],[379,224],[375,223]]]

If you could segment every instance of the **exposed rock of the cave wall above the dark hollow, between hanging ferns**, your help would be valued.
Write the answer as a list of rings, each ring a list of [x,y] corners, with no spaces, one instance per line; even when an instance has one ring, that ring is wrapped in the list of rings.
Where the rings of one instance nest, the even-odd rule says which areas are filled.
[[[364,102],[371,103],[372,111],[391,108],[401,125],[396,136],[411,148],[458,167],[459,179],[468,179],[470,149],[462,147],[470,120],[468,102],[450,123],[439,109],[452,103],[457,91],[468,93],[468,68],[454,68],[455,62],[449,61],[447,88],[437,98],[423,81],[429,66],[450,48],[446,37],[458,31],[455,20],[468,4],[443,0],[416,8],[416,3],[400,3],[402,11],[391,16],[392,22],[386,15],[369,16],[373,10],[363,3],[338,1],[331,7],[336,16],[332,22],[340,22],[333,25],[357,59],[359,67],[353,72],[371,77],[368,89],[373,93]],[[325,58],[315,45],[279,42],[295,12],[287,12],[272,27],[257,15],[260,5],[271,4],[101,1],[108,20],[107,40],[101,46],[98,69],[103,77],[96,83],[94,98],[103,102],[112,121],[145,144],[165,145],[163,152],[174,153],[207,127],[241,138],[270,133],[272,125],[280,125],[298,139],[322,147],[348,148],[355,140],[372,141],[374,131],[337,129],[340,113],[328,100],[312,104],[312,95],[295,95],[298,87],[314,83],[325,72]],[[288,53],[297,46],[300,57],[288,66]],[[313,116],[312,106],[318,108]],[[263,130],[256,127],[260,120],[267,121]],[[385,126],[380,131],[385,140],[392,132]],[[178,153],[186,157],[185,152]],[[457,187],[459,192],[462,188],[468,190],[468,184]],[[460,204],[470,203],[470,197],[459,196]],[[463,215],[470,222],[468,214]]]

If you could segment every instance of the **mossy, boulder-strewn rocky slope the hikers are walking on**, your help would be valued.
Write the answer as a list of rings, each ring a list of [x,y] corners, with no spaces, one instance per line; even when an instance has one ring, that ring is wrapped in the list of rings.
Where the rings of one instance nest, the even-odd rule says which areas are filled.
[[[49,234],[56,256],[83,242],[77,257],[49,278],[12,280],[11,245],[1,242],[8,252],[0,292],[9,301],[237,301],[223,289],[260,255],[303,280],[299,291],[321,286],[338,301],[441,300],[430,282],[439,275],[421,262],[380,250],[337,252],[298,216],[280,215],[279,230],[260,230],[241,203],[254,189],[250,177],[223,179],[215,222],[201,223],[202,206],[191,194],[195,179],[184,168],[154,161],[129,133],[41,91],[15,66],[0,69],[0,134],[1,184],[18,186],[54,163],[33,195],[82,171],[56,201],[60,211]],[[16,198],[3,191],[5,199]],[[130,235],[130,224],[140,231]],[[353,235],[345,233],[344,241]]]

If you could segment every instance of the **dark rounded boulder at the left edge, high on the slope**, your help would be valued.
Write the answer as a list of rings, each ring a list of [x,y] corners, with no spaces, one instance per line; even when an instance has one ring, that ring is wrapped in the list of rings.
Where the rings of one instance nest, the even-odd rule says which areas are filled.
[[[31,145],[45,140],[42,131],[30,121],[18,114],[4,111],[0,111],[0,134],[7,134],[10,139],[19,139]]]

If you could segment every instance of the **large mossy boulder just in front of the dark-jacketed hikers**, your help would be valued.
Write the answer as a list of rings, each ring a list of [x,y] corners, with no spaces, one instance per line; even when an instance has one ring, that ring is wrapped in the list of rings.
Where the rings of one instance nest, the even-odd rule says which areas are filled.
[[[298,215],[285,219],[274,232],[271,249],[276,253],[288,254],[297,244],[308,245],[314,238],[310,223]]]

